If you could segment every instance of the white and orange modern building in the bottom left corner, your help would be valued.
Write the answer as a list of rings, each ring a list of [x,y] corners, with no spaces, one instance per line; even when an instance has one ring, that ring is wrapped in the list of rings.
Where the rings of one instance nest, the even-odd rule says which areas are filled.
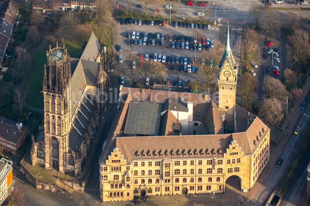
[[[0,159],[0,205],[3,204],[7,198],[8,191],[13,186],[13,168],[12,161],[6,159]]]

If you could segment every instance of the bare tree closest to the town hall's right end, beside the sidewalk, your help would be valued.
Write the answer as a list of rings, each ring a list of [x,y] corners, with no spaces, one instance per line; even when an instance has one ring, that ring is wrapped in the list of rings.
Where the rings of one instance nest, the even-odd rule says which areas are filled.
[[[259,108],[259,116],[268,123],[275,125],[283,118],[283,104],[278,99],[264,97],[263,104]]]

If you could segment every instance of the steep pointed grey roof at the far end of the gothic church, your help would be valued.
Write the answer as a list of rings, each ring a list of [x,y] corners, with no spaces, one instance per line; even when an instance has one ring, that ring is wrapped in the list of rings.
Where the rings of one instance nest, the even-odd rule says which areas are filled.
[[[89,61],[96,61],[96,58],[100,52],[101,45],[100,42],[97,40],[94,32],[91,33],[91,37],[89,38],[83,53],[81,54],[80,59],[89,60]]]

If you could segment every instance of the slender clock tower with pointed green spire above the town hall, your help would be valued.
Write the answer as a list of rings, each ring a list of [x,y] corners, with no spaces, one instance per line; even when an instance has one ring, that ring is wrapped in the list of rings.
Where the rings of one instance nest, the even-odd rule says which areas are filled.
[[[229,25],[227,30],[226,49],[219,65],[219,108],[226,115],[234,115],[237,89],[237,66],[229,45]]]

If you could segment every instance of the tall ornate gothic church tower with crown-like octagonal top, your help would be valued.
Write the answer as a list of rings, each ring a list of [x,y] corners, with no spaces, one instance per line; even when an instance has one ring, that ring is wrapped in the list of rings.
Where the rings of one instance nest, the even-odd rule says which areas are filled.
[[[71,70],[67,49],[47,51],[44,65],[44,142],[45,168],[64,172],[71,120]]]

